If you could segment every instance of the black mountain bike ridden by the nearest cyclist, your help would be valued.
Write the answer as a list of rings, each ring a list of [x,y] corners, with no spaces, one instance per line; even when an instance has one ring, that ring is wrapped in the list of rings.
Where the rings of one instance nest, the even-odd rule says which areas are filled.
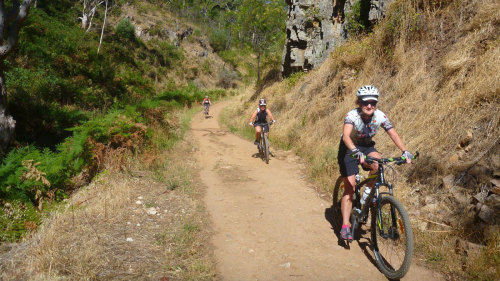
[[[419,155],[415,153],[414,159]],[[389,279],[399,279],[408,272],[413,257],[413,231],[410,218],[403,204],[393,196],[393,185],[388,183],[384,175],[384,166],[389,163],[401,165],[406,163],[404,157],[374,158],[365,156],[365,162],[378,163],[378,173],[361,180],[356,175],[353,208],[350,222],[353,237],[359,236],[360,224],[366,224],[371,213],[371,248],[379,270]],[[361,204],[360,191],[368,182],[375,180],[374,188]],[[386,187],[388,192],[381,192]],[[334,211],[340,214],[340,199],[343,194],[343,183],[337,180],[334,189]],[[341,215],[340,215],[341,217]],[[357,236],[356,236],[357,235]]]

